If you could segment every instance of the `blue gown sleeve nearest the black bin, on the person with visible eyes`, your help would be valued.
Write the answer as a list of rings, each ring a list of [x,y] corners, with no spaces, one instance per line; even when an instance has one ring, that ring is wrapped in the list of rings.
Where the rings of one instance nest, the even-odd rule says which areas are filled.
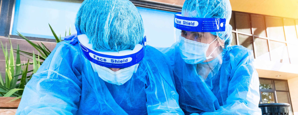
[[[261,109],[258,108],[260,83],[254,68],[253,55],[251,50],[242,46],[227,53],[221,66],[223,69],[220,71],[221,94],[227,97],[227,100],[218,110],[201,113],[202,115],[261,114]]]

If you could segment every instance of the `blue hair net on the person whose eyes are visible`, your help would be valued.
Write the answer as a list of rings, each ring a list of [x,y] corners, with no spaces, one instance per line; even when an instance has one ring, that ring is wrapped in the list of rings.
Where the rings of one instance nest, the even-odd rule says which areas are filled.
[[[226,30],[210,33],[224,40],[225,46],[232,43],[232,26],[229,24],[232,7],[229,0],[186,0],[181,13],[193,18],[225,18]]]

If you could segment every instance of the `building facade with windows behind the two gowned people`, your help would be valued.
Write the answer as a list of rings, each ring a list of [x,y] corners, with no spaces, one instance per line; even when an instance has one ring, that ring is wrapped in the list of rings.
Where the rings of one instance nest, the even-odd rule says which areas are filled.
[[[147,43],[170,47],[174,42],[173,15],[181,11],[184,0],[130,0],[144,22]],[[62,38],[65,31],[76,33],[75,15],[83,0],[1,0],[0,39],[27,52],[37,52],[17,35],[44,43],[52,50],[56,43],[50,24]],[[253,50],[260,78],[260,104],[289,103],[298,115],[298,2],[238,1],[232,5],[233,42]],[[0,50],[2,51],[2,50]],[[25,63],[28,58],[21,56]],[[0,53],[0,64],[5,64]],[[0,72],[4,75],[5,68]]]

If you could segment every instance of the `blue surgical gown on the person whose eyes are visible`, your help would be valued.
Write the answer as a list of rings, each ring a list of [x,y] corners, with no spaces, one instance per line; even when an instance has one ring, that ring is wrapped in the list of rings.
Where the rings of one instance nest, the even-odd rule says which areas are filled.
[[[179,46],[160,49],[172,60],[179,105],[185,115],[259,115],[259,78],[251,50],[227,46],[214,60],[187,64]]]

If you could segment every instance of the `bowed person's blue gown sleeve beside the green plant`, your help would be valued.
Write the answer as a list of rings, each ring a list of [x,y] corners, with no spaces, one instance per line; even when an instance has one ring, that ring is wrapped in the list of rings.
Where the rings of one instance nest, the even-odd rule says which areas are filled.
[[[78,48],[68,41],[55,49],[26,84],[16,115],[73,115],[81,96]]]

